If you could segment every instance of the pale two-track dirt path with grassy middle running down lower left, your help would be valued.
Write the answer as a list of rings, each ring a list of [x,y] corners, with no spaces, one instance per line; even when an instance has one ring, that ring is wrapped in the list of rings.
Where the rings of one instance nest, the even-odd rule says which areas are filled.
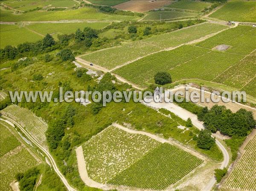
[[[61,181],[64,183],[64,185],[67,187],[68,191],[76,191],[74,188],[72,188],[69,183],[67,182],[66,178],[63,176],[63,174],[61,174],[61,171],[58,169],[58,166],[56,165],[52,155],[44,148],[42,147],[21,125],[19,125],[17,122],[15,122],[14,120],[12,120],[9,117],[3,116],[1,115],[1,117],[3,117],[6,121],[8,121],[7,123],[13,123],[15,125],[17,125],[18,128],[20,128],[20,130],[26,135],[26,137],[32,142],[34,143],[38,148],[41,149],[41,151],[44,152],[44,154],[47,156],[47,158],[49,159],[49,161],[52,164],[52,167],[54,169],[54,171],[58,174],[58,176],[60,177]],[[12,125],[13,126],[13,125]]]

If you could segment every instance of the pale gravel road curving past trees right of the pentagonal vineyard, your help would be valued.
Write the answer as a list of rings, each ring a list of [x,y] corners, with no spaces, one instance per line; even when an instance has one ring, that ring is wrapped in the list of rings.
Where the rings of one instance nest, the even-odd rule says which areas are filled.
[[[191,112],[187,111],[186,109],[181,108],[178,105],[175,105],[174,103],[155,103],[154,101],[150,102],[150,103],[145,103],[143,102],[143,104],[148,105],[152,108],[165,108],[169,111],[171,111],[172,113],[176,114],[178,117],[180,117],[183,120],[187,120],[189,117],[192,120],[192,123],[198,128],[198,129],[204,129],[203,123],[201,121],[199,121],[197,119],[197,116],[195,114],[192,114]],[[224,160],[221,162],[221,166],[220,168],[225,168],[227,167],[229,160],[230,160],[230,156],[228,154],[227,149],[216,139],[216,144],[218,146],[218,148],[221,150]],[[213,176],[211,178],[211,180],[207,183],[207,185],[203,188],[203,191],[211,191],[212,187],[215,185],[216,183],[216,179],[215,176]]]

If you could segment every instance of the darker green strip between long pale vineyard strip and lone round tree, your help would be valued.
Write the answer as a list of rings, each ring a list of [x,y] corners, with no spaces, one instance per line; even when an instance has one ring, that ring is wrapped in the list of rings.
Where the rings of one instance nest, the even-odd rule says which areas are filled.
[[[207,53],[207,48],[181,46],[171,51],[149,55],[114,71],[121,77],[138,85],[152,79],[157,71],[167,71],[178,64]],[[141,72],[143,71],[143,72]]]

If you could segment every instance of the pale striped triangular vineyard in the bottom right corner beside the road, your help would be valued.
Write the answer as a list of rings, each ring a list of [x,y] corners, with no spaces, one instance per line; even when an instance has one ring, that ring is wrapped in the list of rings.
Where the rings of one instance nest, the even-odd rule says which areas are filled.
[[[246,145],[244,154],[233,167],[224,188],[233,191],[256,190],[256,136]]]

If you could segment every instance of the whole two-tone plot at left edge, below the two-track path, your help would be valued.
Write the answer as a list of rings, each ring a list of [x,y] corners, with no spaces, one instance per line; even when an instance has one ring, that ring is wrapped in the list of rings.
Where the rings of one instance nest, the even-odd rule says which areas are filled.
[[[6,128],[13,128],[9,124],[1,121],[1,152],[2,147],[8,145],[9,152],[0,157],[0,190],[12,191],[10,183],[15,180],[15,175],[19,172],[24,172],[27,169],[35,166],[38,162],[23,146],[19,146],[20,142]],[[7,132],[9,131],[9,132]],[[9,139],[10,138],[10,139]],[[18,143],[17,143],[18,142]],[[12,147],[10,145],[12,145]],[[2,154],[2,153],[1,153]]]

